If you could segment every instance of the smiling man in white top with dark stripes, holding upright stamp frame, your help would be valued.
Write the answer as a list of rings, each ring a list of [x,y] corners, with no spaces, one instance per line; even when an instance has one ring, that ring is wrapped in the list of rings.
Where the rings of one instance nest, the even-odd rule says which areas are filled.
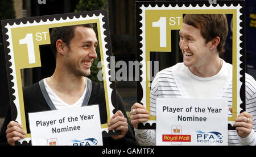
[[[150,113],[156,115],[156,98],[225,98],[232,111],[232,65],[220,59],[228,24],[224,14],[187,14],[180,30],[183,63],[160,71],[151,85]],[[229,145],[256,145],[256,81],[246,74],[246,111],[229,130]],[[143,105],[131,107],[131,123],[141,145],[155,145],[155,130],[138,130],[150,117]],[[231,112],[230,112],[231,114]],[[256,131],[256,130],[255,130]]]

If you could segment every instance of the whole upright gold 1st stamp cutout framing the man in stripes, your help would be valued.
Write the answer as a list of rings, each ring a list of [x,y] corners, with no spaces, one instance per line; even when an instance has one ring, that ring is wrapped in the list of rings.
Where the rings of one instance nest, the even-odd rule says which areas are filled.
[[[229,115],[229,130],[238,114],[245,111],[245,2],[180,1],[137,2],[137,60],[141,64],[140,81],[137,84],[138,102],[150,111],[150,53],[172,52],[171,32],[180,30],[184,14],[228,14],[233,17],[232,64],[233,64],[233,113]],[[177,39],[178,40],[178,39]],[[156,116],[150,114],[147,122],[139,123],[139,129],[155,129]]]

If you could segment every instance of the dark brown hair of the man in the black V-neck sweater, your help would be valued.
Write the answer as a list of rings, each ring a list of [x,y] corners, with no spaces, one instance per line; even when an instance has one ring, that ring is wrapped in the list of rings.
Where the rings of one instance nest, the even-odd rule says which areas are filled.
[[[93,23],[89,23],[89,24],[79,24],[79,25],[73,25],[73,26],[51,28],[51,33],[50,33],[51,49],[55,57],[56,57],[56,51],[57,51],[57,48],[56,48],[57,40],[61,39],[64,43],[67,44],[69,48],[69,43],[71,39],[75,36],[74,31],[78,26],[93,28],[94,25]]]

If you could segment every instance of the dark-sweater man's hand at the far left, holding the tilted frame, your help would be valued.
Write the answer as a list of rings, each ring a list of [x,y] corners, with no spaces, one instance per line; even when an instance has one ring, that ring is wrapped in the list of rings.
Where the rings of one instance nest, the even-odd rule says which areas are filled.
[[[5,133],[7,142],[11,146],[14,146],[15,141],[25,138],[26,135],[26,131],[23,130],[23,126],[14,121],[11,121],[9,125],[7,125],[7,130]]]

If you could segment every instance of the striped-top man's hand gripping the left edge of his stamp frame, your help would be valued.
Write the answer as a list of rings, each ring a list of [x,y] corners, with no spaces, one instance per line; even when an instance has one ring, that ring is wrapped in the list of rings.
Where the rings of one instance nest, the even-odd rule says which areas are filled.
[[[148,114],[148,111],[142,104],[139,104],[137,102],[133,106],[131,106],[131,125],[133,125],[133,127],[135,127],[136,129],[138,129],[138,123],[148,121],[149,117],[150,115]]]

